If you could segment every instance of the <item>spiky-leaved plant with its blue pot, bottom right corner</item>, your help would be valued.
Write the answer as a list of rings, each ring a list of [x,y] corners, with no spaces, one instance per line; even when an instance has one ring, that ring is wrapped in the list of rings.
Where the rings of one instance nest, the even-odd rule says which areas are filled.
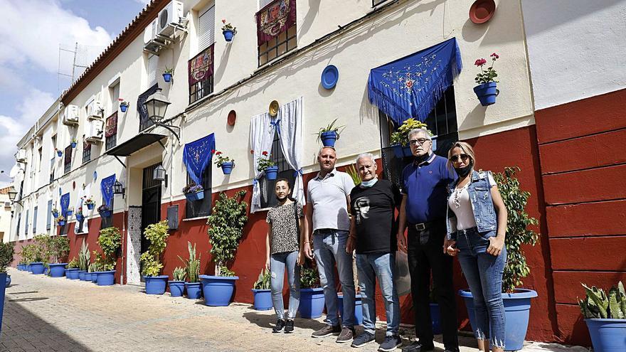
[[[626,292],[620,281],[606,294],[598,287],[585,287],[587,297],[578,301],[589,329],[593,351],[626,351]]]

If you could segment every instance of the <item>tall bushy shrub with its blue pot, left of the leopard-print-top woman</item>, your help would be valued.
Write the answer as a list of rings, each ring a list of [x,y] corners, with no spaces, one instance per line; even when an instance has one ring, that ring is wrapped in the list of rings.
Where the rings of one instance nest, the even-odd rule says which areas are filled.
[[[243,226],[248,222],[248,203],[243,201],[243,196],[243,190],[233,197],[220,193],[207,221],[211,258],[216,263],[215,276],[200,275],[207,306],[228,306],[235,290],[235,280],[239,279],[226,265],[235,257]]]

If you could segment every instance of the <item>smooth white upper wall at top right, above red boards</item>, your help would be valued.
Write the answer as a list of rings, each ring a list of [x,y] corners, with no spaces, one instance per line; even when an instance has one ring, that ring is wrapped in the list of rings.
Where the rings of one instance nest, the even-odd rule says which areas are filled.
[[[626,0],[522,0],[535,109],[626,87]]]

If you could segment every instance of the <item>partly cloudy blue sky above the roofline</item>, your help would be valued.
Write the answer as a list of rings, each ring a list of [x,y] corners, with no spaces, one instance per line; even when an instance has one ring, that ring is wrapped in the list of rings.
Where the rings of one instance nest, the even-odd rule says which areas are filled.
[[[95,58],[149,0],[0,0],[0,186],[15,164],[16,143],[70,85],[74,43]],[[60,61],[60,63],[59,63]],[[59,90],[60,88],[60,90]]]

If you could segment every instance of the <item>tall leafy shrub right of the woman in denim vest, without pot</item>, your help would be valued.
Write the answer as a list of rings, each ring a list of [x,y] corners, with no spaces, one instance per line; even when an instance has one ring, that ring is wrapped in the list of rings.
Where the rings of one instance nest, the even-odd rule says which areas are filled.
[[[526,204],[531,193],[522,191],[515,177],[519,167],[506,167],[503,173],[494,173],[502,201],[509,214],[506,223],[506,267],[502,275],[502,292],[514,292],[522,284],[522,279],[530,273],[522,245],[536,245],[539,235],[529,229],[539,221],[526,213]]]

